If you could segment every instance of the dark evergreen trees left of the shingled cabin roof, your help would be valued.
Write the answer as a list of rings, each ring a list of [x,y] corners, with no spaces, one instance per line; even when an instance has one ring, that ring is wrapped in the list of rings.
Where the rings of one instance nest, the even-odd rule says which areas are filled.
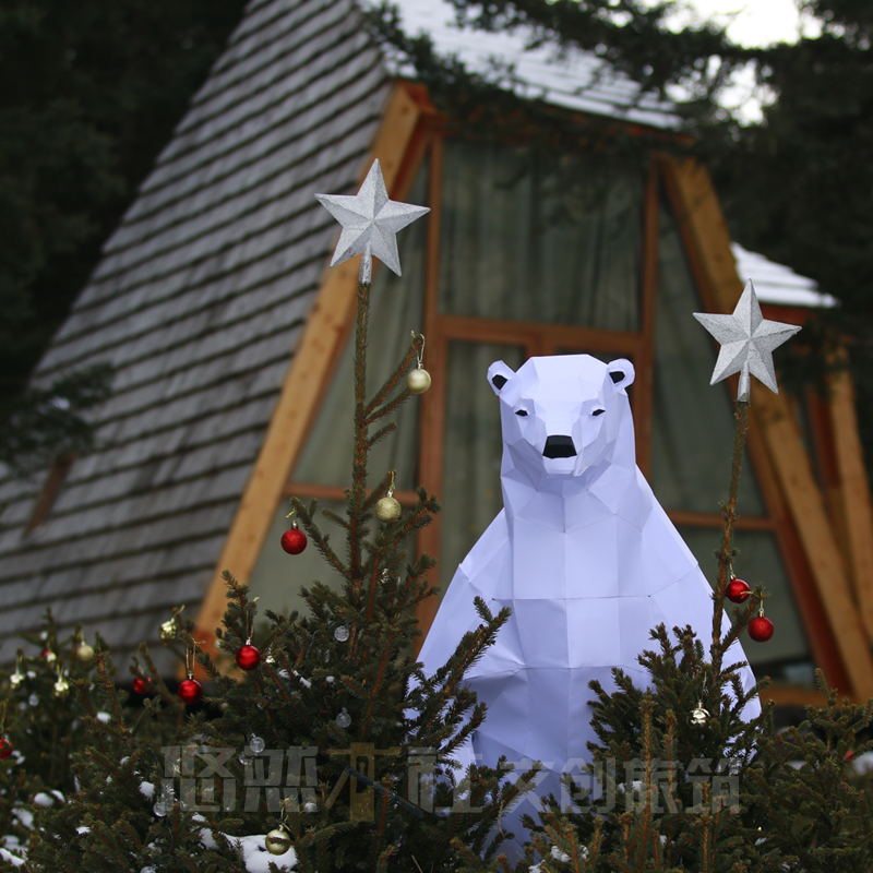
[[[77,427],[81,380],[59,408],[25,396],[27,378],[243,5],[0,3],[0,459],[26,470]],[[106,373],[85,375],[100,396]]]

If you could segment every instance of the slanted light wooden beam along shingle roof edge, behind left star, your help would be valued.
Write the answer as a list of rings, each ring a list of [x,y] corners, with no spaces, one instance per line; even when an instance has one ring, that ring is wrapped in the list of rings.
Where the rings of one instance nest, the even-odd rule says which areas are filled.
[[[382,124],[361,167],[363,180],[374,158],[382,165],[385,186],[392,191],[399,176],[421,108],[403,85],[395,85],[386,103]],[[330,376],[330,363],[346,334],[355,307],[359,258],[333,270],[325,268],[321,288],[294,352],[278,402],[246,486],[225,547],[196,618],[198,638],[213,647],[214,629],[225,613],[227,569],[248,581],[266,538],[294,464]]]

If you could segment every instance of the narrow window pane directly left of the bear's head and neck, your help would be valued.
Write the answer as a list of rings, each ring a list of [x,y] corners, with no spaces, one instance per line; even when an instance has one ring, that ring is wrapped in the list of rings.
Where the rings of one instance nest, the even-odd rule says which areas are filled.
[[[500,406],[488,384],[498,360],[517,370],[521,346],[450,342],[445,391],[445,456],[440,543],[440,588],[503,509],[500,461],[503,439]]]

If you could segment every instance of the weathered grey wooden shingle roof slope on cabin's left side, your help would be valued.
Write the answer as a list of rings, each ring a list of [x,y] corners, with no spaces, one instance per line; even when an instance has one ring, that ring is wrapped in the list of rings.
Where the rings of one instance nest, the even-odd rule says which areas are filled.
[[[0,481],[1,661],[46,606],[123,658],[202,598],[388,87],[352,0],[248,5],[37,369],[117,372],[43,528]]]

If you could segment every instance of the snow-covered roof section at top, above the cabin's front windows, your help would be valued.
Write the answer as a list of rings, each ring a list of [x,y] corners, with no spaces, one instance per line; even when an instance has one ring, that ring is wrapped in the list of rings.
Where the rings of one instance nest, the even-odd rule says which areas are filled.
[[[671,103],[653,94],[642,94],[639,85],[618,73],[591,53],[567,50],[559,57],[554,47],[526,49],[529,32],[487,33],[459,29],[455,11],[446,0],[397,0],[400,24],[410,36],[421,32],[433,40],[441,55],[456,55],[471,72],[487,73],[513,65],[512,75],[501,84],[512,85],[522,97],[540,97],[547,103],[595,115],[619,118],[655,128],[675,128],[680,123]],[[393,72],[415,77],[411,67],[392,58]]]

